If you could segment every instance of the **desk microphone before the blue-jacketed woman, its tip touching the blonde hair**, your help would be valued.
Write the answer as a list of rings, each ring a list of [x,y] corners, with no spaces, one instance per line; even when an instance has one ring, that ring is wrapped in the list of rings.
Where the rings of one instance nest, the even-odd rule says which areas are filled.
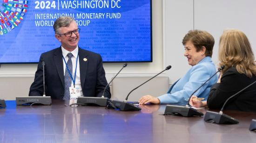
[[[218,71],[213,74],[208,80],[206,80],[200,87],[198,87],[189,97],[192,97],[192,95],[195,94],[196,91],[198,91],[204,84],[206,84],[211,78],[213,78],[218,72],[222,71],[224,69],[225,65],[222,65]],[[184,117],[192,117],[192,116],[203,116],[203,113],[196,110],[195,108],[189,107],[189,101],[185,106],[179,106],[179,105],[166,105],[165,111],[163,115],[182,115]]]

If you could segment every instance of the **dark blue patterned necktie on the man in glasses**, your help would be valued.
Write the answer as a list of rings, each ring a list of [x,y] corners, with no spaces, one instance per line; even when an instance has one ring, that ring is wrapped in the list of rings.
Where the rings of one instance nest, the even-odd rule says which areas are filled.
[[[71,60],[71,58],[73,57],[72,53],[69,52],[67,54],[67,57],[68,57],[68,60],[67,60],[67,66],[66,66],[65,75],[64,75],[64,97],[63,97],[64,100],[70,99],[69,87],[71,87],[71,82],[72,82],[72,79],[68,74],[67,67],[71,75],[73,75],[73,65]]]

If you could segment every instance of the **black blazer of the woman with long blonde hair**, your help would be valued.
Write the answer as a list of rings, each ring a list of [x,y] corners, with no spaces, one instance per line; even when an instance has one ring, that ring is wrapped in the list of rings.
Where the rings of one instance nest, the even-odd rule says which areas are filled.
[[[236,68],[230,67],[223,73],[221,82],[211,87],[207,100],[208,107],[210,109],[221,109],[229,97],[254,81],[256,81],[255,75],[249,78],[245,74],[238,73]],[[256,112],[256,84],[229,99],[224,107],[225,109]]]

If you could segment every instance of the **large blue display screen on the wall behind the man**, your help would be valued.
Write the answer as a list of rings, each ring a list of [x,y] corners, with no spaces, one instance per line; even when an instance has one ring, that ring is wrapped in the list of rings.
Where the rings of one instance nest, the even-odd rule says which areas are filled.
[[[0,64],[37,63],[60,47],[60,16],[74,17],[79,47],[103,62],[152,62],[151,0],[0,0]]]

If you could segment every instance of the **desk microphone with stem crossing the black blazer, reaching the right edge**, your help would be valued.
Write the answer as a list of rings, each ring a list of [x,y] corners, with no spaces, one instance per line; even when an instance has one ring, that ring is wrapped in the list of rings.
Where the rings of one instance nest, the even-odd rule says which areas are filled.
[[[229,101],[229,99],[235,97],[237,94],[241,93],[242,91],[246,90],[247,88],[249,88],[251,85],[255,84],[256,81],[254,81],[253,83],[249,84],[248,86],[246,86],[245,88],[243,88],[241,91],[238,91],[236,94],[230,96],[225,103],[222,106],[222,109],[220,110],[219,113],[217,112],[213,112],[213,111],[206,111],[205,116],[204,116],[204,121],[205,122],[212,122],[212,123],[217,123],[217,124],[225,124],[225,123],[229,123],[229,124],[234,124],[234,123],[239,123],[238,120],[236,120],[233,117],[230,117],[226,114],[223,114],[223,109],[224,106],[227,104],[227,102]]]

